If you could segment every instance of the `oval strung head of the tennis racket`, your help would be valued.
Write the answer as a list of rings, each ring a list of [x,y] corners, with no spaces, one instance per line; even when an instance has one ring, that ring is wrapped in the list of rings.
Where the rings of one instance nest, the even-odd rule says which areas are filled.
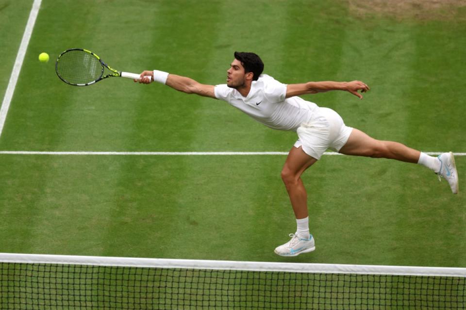
[[[80,49],[68,50],[56,62],[58,76],[73,85],[85,85],[99,79],[104,67],[94,55]]]

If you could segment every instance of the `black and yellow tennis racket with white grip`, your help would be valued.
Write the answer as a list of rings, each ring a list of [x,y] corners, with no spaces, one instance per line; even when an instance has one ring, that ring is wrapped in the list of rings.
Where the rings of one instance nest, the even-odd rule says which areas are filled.
[[[61,53],[55,62],[55,71],[62,81],[74,86],[92,85],[112,77],[140,79],[139,74],[116,71],[99,56],[83,48],[71,48]]]

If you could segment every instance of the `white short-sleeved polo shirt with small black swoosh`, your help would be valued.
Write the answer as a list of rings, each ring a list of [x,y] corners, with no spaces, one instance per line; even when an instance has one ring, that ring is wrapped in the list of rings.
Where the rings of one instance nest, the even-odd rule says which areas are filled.
[[[296,131],[302,123],[309,122],[312,113],[318,108],[315,103],[298,96],[285,98],[286,84],[266,74],[252,81],[246,97],[227,84],[216,85],[215,96],[259,123],[280,130]]]

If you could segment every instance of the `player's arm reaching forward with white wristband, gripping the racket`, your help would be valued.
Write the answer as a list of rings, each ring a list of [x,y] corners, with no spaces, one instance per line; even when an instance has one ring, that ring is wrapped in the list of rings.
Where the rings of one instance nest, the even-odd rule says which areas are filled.
[[[158,74],[157,71],[156,74]],[[177,76],[175,74],[167,74],[166,72],[163,72],[163,74],[164,75],[160,77],[154,76],[154,71],[144,71],[141,73],[141,79],[138,82],[149,84],[151,81],[157,81],[183,93],[195,93],[204,97],[216,98],[214,85],[201,84],[192,78]],[[142,77],[150,77],[150,79]]]

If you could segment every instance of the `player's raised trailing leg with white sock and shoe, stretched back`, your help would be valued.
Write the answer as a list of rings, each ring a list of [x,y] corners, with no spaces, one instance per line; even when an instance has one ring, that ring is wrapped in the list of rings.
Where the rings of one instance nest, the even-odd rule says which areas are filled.
[[[451,152],[438,157],[407,147],[394,141],[382,141],[369,137],[366,133],[353,128],[350,138],[339,150],[341,154],[395,159],[409,163],[417,163],[445,178],[453,194],[458,193],[458,172]]]

